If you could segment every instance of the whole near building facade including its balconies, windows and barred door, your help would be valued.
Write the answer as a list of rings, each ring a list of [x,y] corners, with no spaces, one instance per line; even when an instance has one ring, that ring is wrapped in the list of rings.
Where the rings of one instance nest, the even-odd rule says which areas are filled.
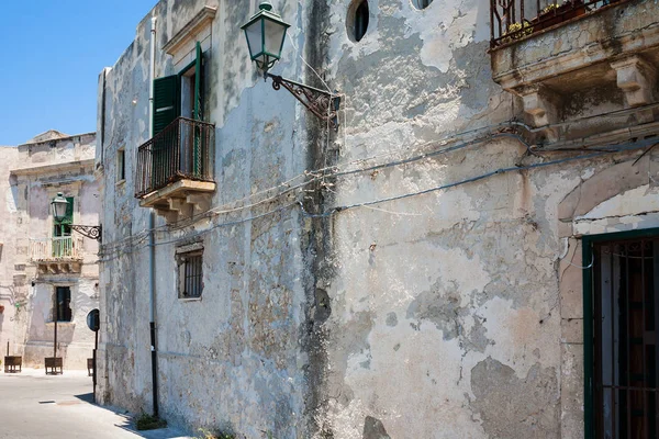
[[[247,438],[657,428],[659,7],[500,4],[275,2],[272,71],[335,132],[250,63],[257,2],[158,2],[99,81],[100,401]]]

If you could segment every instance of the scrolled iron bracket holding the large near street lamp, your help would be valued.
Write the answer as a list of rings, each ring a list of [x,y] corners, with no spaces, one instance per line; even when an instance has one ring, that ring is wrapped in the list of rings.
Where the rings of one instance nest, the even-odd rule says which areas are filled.
[[[267,78],[272,79],[272,88],[275,90],[280,90],[283,87],[316,117],[327,123],[334,131],[338,130],[339,97],[325,90],[282,78],[278,75],[266,72],[264,79]]]

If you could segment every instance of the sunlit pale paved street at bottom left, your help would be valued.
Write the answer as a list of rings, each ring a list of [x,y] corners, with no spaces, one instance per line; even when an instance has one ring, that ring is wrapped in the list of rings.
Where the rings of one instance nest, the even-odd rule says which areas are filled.
[[[46,376],[43,370],[0,372],[0,439],[171,439],[171,429],[130,431],[130,418],[91,402],[91,378],[83,371]]]

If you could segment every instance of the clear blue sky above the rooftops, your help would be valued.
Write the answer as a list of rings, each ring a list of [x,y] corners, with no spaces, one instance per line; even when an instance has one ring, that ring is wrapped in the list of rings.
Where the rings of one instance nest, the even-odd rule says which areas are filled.
[[[96,131],[97,83],[157,0],[0,0],[0,145]]]

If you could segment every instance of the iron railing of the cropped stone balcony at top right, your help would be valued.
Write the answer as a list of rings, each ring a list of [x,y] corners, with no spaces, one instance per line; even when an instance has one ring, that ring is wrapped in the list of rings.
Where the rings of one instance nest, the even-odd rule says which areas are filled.
[[[491,47],[513,43],[624,1],[627,0],[490,0]]]

